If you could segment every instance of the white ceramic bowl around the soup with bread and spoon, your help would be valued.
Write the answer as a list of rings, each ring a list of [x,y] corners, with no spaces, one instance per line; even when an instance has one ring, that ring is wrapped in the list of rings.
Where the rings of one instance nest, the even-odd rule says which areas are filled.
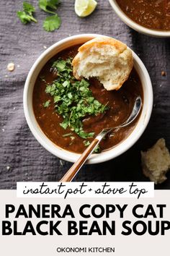
[[[79,154],[63,150],[45,136],[35,119],[32,108],[32,92],[35,85],[35,80],[37,79],[37,75],[40,73],[40,70],[42,67],[44,67],[47,61],[49,61],[49,59],[51,59],[53,56],[55,56],[55,54],[65,48],[74,46],[79,43],[85,43],[87,40],[91,40],[96,36],[96,34],[73,35],[69,38],[58,41],[58,43],[53,44],[53,46],[50,46],[50,48],[43,52],[35,61],[35,64],[33,64],[32,68],[30,69],[24,85],[24,114],[32,134],[35,136],[37,141],[40,142],[44,148],[46,148],[46,150],[50,151],[50,153],[53,153],[53,155],[56,155],[59,158],[70,162],[75,162],[79,158]],[[108,161],[109,159],[116,158],[118,155],[121,155],[130,147],[132,147],[132,145],[139,139],[139,137],[146,129],[153,106],[153,90],[149,74],[146,70],[146,67],[143,65],[143,62],[134,52],[133,57],[135,69],[140,76],[140,80],[143,86],[143,109],[142,113],[140,114],[138,124],[127,139],[120,142],[120,144],[115,148],[104,151],[100,154],[91,155],[88,163],[101,163]]]

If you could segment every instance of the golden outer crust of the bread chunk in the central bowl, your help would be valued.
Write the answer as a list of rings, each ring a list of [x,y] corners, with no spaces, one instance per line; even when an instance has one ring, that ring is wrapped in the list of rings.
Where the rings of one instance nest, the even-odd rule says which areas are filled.
[[[87,41],[82,46],[79,47],[79,53],[75,56],[75,58],[72,61],[73,65],[73,75],[76,77],[76,79],[80,79],[82,74],[79,75],[79,67],[81,66],[81,61],[83,58],[82,56],[89,56],[91,53],[91,49],[95,48],[98,51],[106,51],[106,47],[109,48],[109,51],[116,54],[117,58],[121,57],[123,61],[125,61],[126,66],[126,72],[120,76],[120,80],[112,81],[112,79],[109,80],[109,82],[104,81],[103,77],[97,77],[99,78],[100,82],[104,85],[104,88],[107,90],[119,90],[122,86],[122,84],[128,80],[129,74],[131,70],[133,69],[133,54],[132,51],[125,45],[125,43],[120,42],[119,40],[115,40],[114,38],[109,38],[107,36],[100,36],[97,38],[94,38],[92,40]],[[121,67],[119,67],[121,69]],[[119,70],[117,69],[117,70]],[[92,76],[92,75],[91,75]],[[89,78],[89,77],[86,77]],[[107,77],[108,78],[108,77]]]

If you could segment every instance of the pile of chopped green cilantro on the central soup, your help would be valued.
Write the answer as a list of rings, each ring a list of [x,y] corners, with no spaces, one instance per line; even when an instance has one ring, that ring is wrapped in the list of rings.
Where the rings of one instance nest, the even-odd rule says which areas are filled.
[[[88,81],[73,77],[71,59],[54,61],[51,72],[57,74],[57,79],[46,85],[45,92],[53,97],[55,110],[63,116],[61,127],[69,127],[84,139],[93,137],[93,131],[84,131],[82,120],[86,116],[102,114],[108,107],[94,98]]]

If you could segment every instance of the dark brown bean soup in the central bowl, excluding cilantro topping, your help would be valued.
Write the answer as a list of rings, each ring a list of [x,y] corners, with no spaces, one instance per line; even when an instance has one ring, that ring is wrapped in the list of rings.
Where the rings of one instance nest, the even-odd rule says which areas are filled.
[[[76,56],[78,48],[79,46],[73,46],[61,51],[53,57],[53,61],[58,58],[73,58]],[[45,83],[48,82],[50,84],[56,78],[56,74],[51,72],[51,63],[52,60],[45,64],[45,67],[42,68],[35,82],[35,88],[33,90],[33,109],[35,118],[37,119],[37,123],[39,124],[40,129],[42,129],[42,132],[44,132],[55,145],[74,153],[82,153],[86,149],[84,138],[76,135],[76,133],[69,127],[67,127],[67,129],[61,127],[63,117],[55,111],[53,97],[45,93]],[[82,120],[84,131],[92,131],[95,135],[99,134],[105,127],[116,127],[117,125],[122,124],[123,121],[128,119],[128,116],[131,113],[135,98],[138,95],[143,98],[143,89],[140,78],[134,68],[130,73],[130,77],[124,85],[122,85],[120,90],[107,91],[96,78],[91,78],[89,83],[89,88],[92,91],[94,98],[100,103],[107,104],[108,106],[107,111],[104,111],[104,113],[98,114],[97,116],[85,116]],[[44,103],[48,100],[51,102],[50,106],[45,108]],[[135,119],[130,126],[119,129],[115,134],[107,136],[100,143],[100,150],[108,150],[109,148],[115,147],[115,145],[122,140],[125,140],[125,138],[127,138],[133,131],[137,122],[138,119]],[[71,134],[72,136],[65,137],[66,134]],[[91,140],[94,140],[95,135],[88,138],[88,141],[91,142]]]

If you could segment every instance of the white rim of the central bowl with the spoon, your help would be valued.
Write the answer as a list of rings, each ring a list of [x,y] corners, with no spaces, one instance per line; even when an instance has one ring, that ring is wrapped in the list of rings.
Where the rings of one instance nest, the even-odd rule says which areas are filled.
[[[27,79],[26,79],[26,82],[24,85],[24,93],[23,93],[24,115],[27,120],[27,124],[30,127],[30,130],[32,132],[32,135],[34,135],[34,137],[40,143],[40,145],[42,145],[42,147],[45,148],[46,150],[48,150],[50,153],[57,156],[58,158],[61,158],[65,161],[70,161],[72,163],[75,162],[79,158],[80,154],[72,153],[68,150],[64,150],[63,148],[60,148],[57,145],[55,145],[50,139],[48,139],[48,137],[46,137],[46,135],[42,132],[40,127],[38,127],[39,131],[37,132],[37,129],[35,128],[35,124],[31,119],[29,107],[27,104],[27,101],[29,98],[28,90],[29,90],[29,86],[30,86],[30,80],[35,72],[35,68],[37,67],[37,65],[39,65],[41,63],[41,61],[43,61],[45,56],[48,56],[50,54],[51,51],[53,51],[55,48],[58,48],[58,46],[61,46],[64,43],[68,43],[69,41],[72,41],[72,40],[76,40],[76,39],[78,40],[81,38],[82,42],[83,42],[83,39],[85,42],[85,41],[95,38],[97,36],[101,36],[101,35],[99,35],[99,34],[79,34],[79,35],[73,35],[68,38],[64,38],[62,40],[59,40],[57,43],[54,43],[52,46],[50,46],[48,49],[46,49],[42,54],[40,54],[40,56],[36,59],[35,63],[32,65],[32,68],[30,69],[30,72],[27,75]],[[76,45],[76,43],[75,43],[75,45]],[[151,84],[151,79],[149,77],[148,71],[147,71],[146,67],[144,66],[143,62],[140,60],[140,58],[134,52],[133,52],[133,58],[134,58],[134,61],[136,61],[136,63],[140,67],[141,71],[143,72],[143,77],[145,77],[145,79],[147,81],[148,95],[150,95],[150,101],[148,102],[147,113],[145,114],[145,117],[144,117],[143,126],[138,127],[139,131],[134,134],[134,137],[131,136],[134,133],[134,131],[136,130],[136,127],[138,126],[138,123],[140,120],[139,119],[136,127],[133,129],[133,131],[130,133],[130,135],[125,140],[122,140],[122,142],[120,142],[119,145],[117,145],[115,148],[106,150],[100,154],[92,154],[89,157],[89,161],[87,161],[86,163],[91,163],[91,164],[102,163],[104,161],[109,161],[112,158],[116,158],[118,155],[121,155],[122,153],[125,153],[129,148],[131,148],[135,144],[135,142],[138,141],[139,137],[143,134],[144,130],[146,129],[146,127],[148,125],[148,121],[151,117],[151,112],[152,112],[152,108],[153,108],[153,88],[152,88],[152,84]],[[46,62],[47,61],[45,61],[45,63]],[[45,65],[45,63],[43,64],[43,66]],[[140,79],[141,79],[141,77],[140,77]],[[141,112],[141,114],[142,113],[143,113],[143,111]],[[141,114],[140,114],[140,116],[141,116]],[[145,122],[145,124],[144,124],[144,122]],[[45,139],[45,137],[46,137],[46,139]],[[128,140],[129,138],[130,138],[130,140]],[[127,141],[128,141],[128,143],[125,146],[124,144]],[[120,145],[121,145],[121,147],[120,147]],[[112,150],[114,150],[115,152],[112,153]]]

